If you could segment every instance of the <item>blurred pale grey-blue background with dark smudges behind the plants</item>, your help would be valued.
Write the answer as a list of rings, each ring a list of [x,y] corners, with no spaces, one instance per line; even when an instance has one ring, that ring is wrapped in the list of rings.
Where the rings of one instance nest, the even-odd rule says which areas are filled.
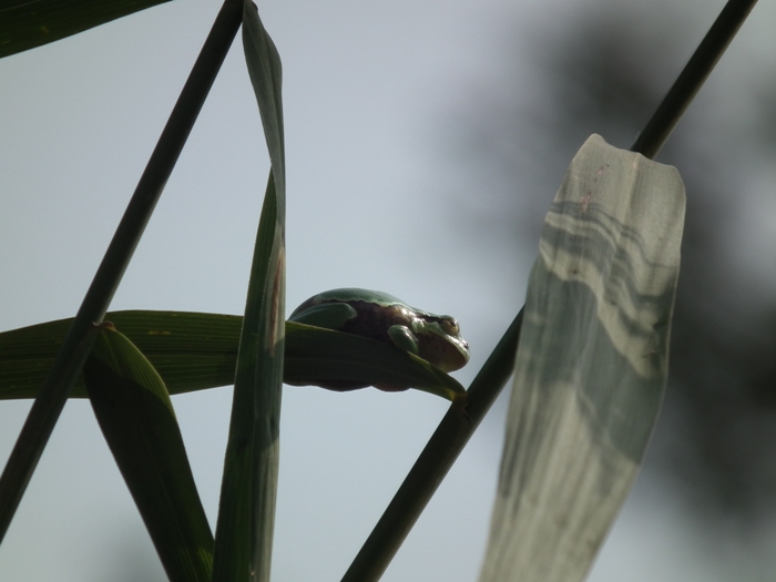
[[[455,315],[467,384],[523,303],[591,133],[627,149],[723,1],[262,2],[284,63],[290,312],[339,286]],[[0,60],[0,330],[72,316],[218,10],[176,0]],[[671,379],[590,575],[776,572],[776,7],[755,8],[657,157],[687,190]],[[268,162],[239,39],[113,309],[239,314]],[[174,398],[215,523],[231,388]],[[384,576],[473,581],[502,395]],[[28,401],[0,404],[0,460]],[[445,413],[413,391],[287,387],[277,581],[338,580]],[[162,581],[85,401],[0,545],[0,582]]]

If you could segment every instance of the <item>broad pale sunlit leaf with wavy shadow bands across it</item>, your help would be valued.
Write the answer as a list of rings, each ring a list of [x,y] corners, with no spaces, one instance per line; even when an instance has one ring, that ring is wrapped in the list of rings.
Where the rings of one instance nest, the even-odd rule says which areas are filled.
[[[684,186],[594,135],[529,282],[480,582],[583,580],[639,470],[667,375]]]

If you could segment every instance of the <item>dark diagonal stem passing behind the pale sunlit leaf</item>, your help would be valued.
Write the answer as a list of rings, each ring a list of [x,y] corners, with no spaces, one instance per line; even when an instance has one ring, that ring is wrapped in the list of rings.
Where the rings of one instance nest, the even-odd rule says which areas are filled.
[[[698,92],[756,0],[729,0],[687,62],[631,151],[653,159]],[[490,409],[514,366],[522,309],[469,389],[466,415],[455,405],[439,423],[341,582],[382,576],[429,500]]]

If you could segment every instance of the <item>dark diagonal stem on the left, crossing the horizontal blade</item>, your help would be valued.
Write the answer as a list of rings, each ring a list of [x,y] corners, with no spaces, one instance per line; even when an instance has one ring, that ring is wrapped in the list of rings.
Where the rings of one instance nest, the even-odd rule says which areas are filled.
[[[243,16],[241,0],[226,0],[197,57],[170,120],[119,223],[105,256],[70,326],[0,477],[0,541],[13,519],[43,448],[64,407],[145,225],[175,166]]]

